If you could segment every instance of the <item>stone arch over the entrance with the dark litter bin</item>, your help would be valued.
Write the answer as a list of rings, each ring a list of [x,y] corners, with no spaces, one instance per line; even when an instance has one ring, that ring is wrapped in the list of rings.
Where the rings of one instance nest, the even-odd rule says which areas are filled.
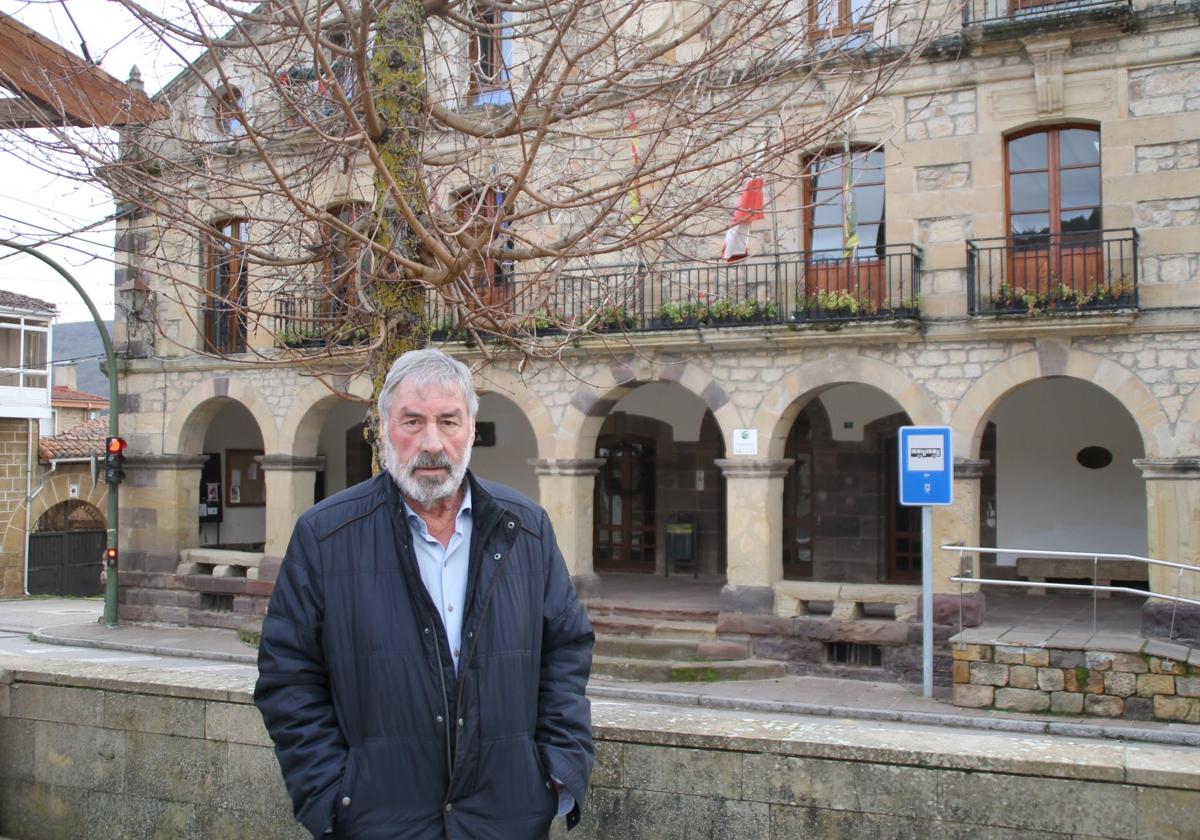
[[[612,367],[611,385],[581,384],[576,389],[554,438],[560,448],[558,457],[593,457],[600,427],[613,406],[640,384],[648,382],[674,383],[700,398],[713,413],[721,437],[726,440],[740,421],[740,413],[728,391],[700,365],[689,361],[655,362],[637,358]]]

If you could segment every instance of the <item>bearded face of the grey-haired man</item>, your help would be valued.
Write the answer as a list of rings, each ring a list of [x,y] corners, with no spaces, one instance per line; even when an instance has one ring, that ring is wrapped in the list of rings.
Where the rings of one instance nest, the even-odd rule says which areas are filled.
[[[383,462],[410,502],[428,509],[452,498],[470,463],[475,421],[455,385],[403,382],[385,418]]]

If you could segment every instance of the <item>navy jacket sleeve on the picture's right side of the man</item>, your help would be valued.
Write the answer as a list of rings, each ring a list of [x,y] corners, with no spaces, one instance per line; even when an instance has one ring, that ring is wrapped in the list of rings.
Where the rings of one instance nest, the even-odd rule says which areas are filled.
[[[592,706],[584,695],[594,636],[545,512],[539,530],[547,556],[535,739],[550,775],[575,797],[566,815],[568,828],[574,828],[595,760]]]

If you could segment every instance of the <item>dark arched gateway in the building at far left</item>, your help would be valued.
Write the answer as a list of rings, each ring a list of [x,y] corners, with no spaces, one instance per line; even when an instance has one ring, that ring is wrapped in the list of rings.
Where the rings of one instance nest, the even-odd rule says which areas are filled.
[[[29,594],[100,595],[104,528],[104,515],[79,499],[42,514],[29,535]]]

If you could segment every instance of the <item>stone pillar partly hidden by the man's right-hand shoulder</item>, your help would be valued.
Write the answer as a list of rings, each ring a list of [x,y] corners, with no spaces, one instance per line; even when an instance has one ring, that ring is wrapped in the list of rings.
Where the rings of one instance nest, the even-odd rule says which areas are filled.
[[[554,526],[558,547],[580,598],[600,594],[600,578],[592,566],[595,522],[595,476],[604,458],[530,458],[538,474],[538,494]]]

